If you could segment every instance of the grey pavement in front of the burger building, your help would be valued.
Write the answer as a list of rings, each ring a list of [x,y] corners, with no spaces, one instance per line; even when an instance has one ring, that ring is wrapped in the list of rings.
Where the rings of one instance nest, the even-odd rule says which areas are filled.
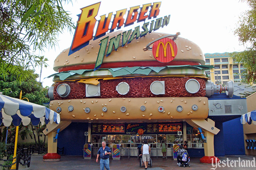
[[[226,161],[227,158],[230,160],[240,160],[240,162],[246,162],[246,160],[252,163],[255,160],[253,156],[227,156],[219,157],[221,161]],[[183,169],[183,167],[177,166],[177,161],[173,160],[172,157],[168,159],[151,157],[152,159],[152,168],[148,170],[173,170],[173,169]],[[200,158],[190,158],[190,170],[210,170],[213,167],[211,164],[201,164]],[[227,162],[226,162],[227,164]],[[220,164],[221,166],[224,164]],[[252,170],[256,167],[241,167],[236,163],[236,167],[217,167],[216,170]],[[246,165],[246,164],[245,164]],[[253,165],[253,164],[252,164]],[[254,164],[255,165],[255,164]],[[230,164],[229,164],[230,166]],[[234,163],[233,163],[234,166]],[[137,157],[127,157],[121,158],[121,160],[112,160],[110,159],[110,169],[111,170],[138,170],[144,169],[145,167],[139,167],[139,160]],[[31,156],[31,170],[100,170],[100,163],[96,163],[96,158],[84,159],[83,156],[61,156],[59,162],[43,162],[43,155],[32,154]]]

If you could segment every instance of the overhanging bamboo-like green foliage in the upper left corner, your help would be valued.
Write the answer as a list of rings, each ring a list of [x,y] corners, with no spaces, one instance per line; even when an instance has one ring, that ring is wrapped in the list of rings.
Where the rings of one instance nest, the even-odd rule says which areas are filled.
[[[47,59],[31,51],[57,44],[58,34],[75,28],[61,3],[70,0],[0,0],[0,74],[15,74],[19,81],[31,76],[29,68]]]

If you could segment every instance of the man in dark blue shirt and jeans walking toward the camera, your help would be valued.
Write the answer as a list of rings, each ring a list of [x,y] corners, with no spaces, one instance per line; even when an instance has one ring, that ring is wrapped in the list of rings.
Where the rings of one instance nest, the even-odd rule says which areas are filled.
[[[109,147],[106,146],[105,141],[103,141],[101,144],[102,144],[102,147],[100,147],[98,151],[96,162],[98,162],[99,156],[101,156],[101,160],[100,160],[101,170],[104,170],[104,166],[107,170],[110,170],[109,155],[111,154],[111,150]]]

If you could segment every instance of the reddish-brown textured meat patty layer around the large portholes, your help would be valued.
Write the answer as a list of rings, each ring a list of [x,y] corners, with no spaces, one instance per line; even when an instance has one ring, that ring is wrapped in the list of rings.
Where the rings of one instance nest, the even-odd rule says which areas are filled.
[[[190,94],[185,89],[185,83],[189,79],[196,79],[200,84],[200,89],[197,93]],[[165,82],[165,94],[155,95],[150,91],[150,85],[154,81]],[[122,98],[122,97],[204,97],[206,95],[206,80],[199,77],[137,77],[137,78],[122,78],[111,80],[99,80],[101,96],[93,98]],[[120,82],[126,82],[130,86],[127,94],[121,95],[116,91],[116,86]],[[60,97],[56,91],[59,84],[67,83],[71,88],[71,92],[67,97]],[[57,82],[54,86],[53,96],[55,100],[65,99],[84,99],[86,97],[86,84],[64,81]]]

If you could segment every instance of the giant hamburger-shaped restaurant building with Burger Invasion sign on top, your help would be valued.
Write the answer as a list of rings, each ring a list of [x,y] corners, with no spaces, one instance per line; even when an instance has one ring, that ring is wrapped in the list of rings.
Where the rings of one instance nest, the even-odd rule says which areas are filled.
[[[112,13],[94,19],[100,2],[81,8],[71,47],[54,61],[58,73],[48,96],[50,109],[60,114],[61,122],[44,130],[45,161],[60,158],[57,146],[65,147],[68,155],[83,155],[84,144],[91,143],[95,155],[103,140],[110,147],[119,143],[129,148],[129,156],[137,156],[137,146],[145,140],[153,148],[151,156],[160,156],[161,151],[154,149],[162,140],[167,156],[172,156],[173,145],[187,140],[189,148],[204,153],[201,162],[218,159],[214,135],[220,130],[208,118],[208,97],[221,91],[232,97],[232,82],[229,87],[212,83],[205,74],[212,67],[205,66],[196,43],[179,33],[159,32],[170,20],[158,16],[160,5],[119,10],[111,22]],[[132,30],[117,30],[135,21],[145,22]]]

